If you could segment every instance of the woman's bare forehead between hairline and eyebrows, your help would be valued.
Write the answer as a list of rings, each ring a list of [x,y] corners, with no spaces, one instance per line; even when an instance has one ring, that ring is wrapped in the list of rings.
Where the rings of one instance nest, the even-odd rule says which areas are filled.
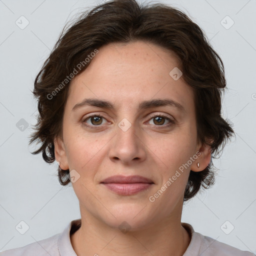
[[[134,41],[110,43],[98,49],[88,67],[70,82],[68,102],[93,97],[126,104],[169,97],[182,105],[192,102],[192,89],[182,76],[174,80],[170,71],[179,59],[161,46]]]

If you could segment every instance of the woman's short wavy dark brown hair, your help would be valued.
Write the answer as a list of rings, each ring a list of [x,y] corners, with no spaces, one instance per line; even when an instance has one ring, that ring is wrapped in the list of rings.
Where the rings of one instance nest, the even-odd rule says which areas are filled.
[[[77,70],[77,63],[86,57],[89,60],[77,70],[80,73],[89,65],[91,58],[88,56],[95,49],[111,42],[134,40],[162,46],[180,60],[182,77],[194,91],[197,141],[210,145],[211,157],[216,158],[234,134],[227,120],[221,117],[221,93],[226,86],[222,60],[204,31],[181,10],[162,3],[145,4],[135,0],[105,2],[82,11],[75,21],[64,26],[34,80],[32,92],[38,101],[39,114],[29,144],[37,141],[41,145],[32,154],[41,152],[47,163],[55,160],[53,141],[57,136],[62,137],[69,82],[66,81],[65,86],[59,84],[74,68]],[[68,184],[69,169],[58,167],[58,179],[61,185]],[[208,188],[214,181],[211,158],[204,170],[190,170],[184,201],[193,197],[200,187]]]

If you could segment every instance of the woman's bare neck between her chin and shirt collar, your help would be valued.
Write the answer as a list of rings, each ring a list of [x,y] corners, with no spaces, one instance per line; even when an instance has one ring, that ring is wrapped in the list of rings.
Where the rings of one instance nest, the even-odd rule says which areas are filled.
[[[99,223],[88,215],[81,217],[80,228],[71,235],[72,247],[77,256],[181,256],[191,237],[181,226],[180,218],[165,219],[147,225],[144,229],[121,231]]]

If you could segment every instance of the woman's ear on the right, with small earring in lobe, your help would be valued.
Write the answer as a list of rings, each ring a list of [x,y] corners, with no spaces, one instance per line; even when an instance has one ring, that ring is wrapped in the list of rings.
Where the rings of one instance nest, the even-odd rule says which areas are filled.
[[[212,143],[213,140],[210,140],[210,143]],[[202,144],[201,142],[197,145],[197,159],[195,159],[191,164],[191,170],[192,171],[201,171],[204,170],[211,159],[211,147],[206,144]],[[197,163],[199,163],[199,167],[197,167]]]

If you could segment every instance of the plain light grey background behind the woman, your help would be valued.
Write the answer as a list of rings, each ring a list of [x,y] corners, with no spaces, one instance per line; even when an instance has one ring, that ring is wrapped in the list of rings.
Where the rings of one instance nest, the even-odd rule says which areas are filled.
[[[34,147],[28,148],[28,135],[37,113],[30,90],[66,21],[101,2],[0,0],[0,251],[52,236],[80,217],[71,185],[58,183],[56,163],[48,165],[29,152]],[[214,160],[220,169],[215,185],[184,205],[181,220],[197,232],[255,253],[256,0],[161,2],[188,14],[222,58],[229,88],[223,116],[236,133]],[[29,21],[24,29],[15,24],[21,15]],[[229,29],[221,24],[226,15],[234,21]],[[16,126],[21,118],[29,124],[23,131]],[[15,229],[21,220],[29,225],[23,235]],[[220,228],[226,220],[234,226],[229,234]]]

